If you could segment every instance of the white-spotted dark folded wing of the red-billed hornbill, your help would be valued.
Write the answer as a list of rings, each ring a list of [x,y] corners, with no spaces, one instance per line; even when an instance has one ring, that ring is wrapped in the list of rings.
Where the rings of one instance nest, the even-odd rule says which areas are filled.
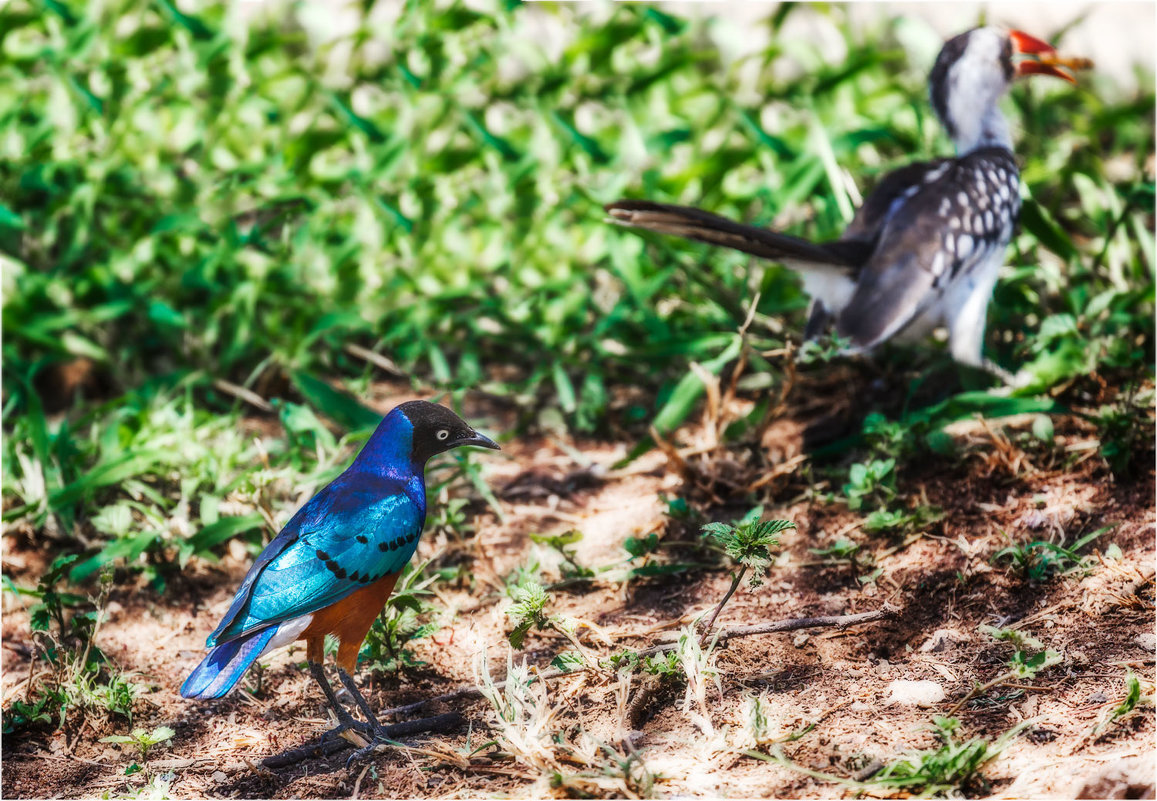
[[[985,148],[920,167],[919,183],[901,188],[897,182],[870,212],[857,214],[865,230],[878,220],[879,233],[837,321],[837,330],[856,347],[870,348],[899,333],[955,281],[1003,252],[1012,236],[1020,196],[1009,150]]]

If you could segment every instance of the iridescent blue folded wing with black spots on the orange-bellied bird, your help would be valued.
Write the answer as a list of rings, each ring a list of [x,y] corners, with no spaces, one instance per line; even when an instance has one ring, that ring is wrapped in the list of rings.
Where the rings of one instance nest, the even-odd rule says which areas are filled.
[[[250,568],[211,647],[324,609],[410,561],[426,519],[421,487],[361,478],[339,477],[293,516]]]

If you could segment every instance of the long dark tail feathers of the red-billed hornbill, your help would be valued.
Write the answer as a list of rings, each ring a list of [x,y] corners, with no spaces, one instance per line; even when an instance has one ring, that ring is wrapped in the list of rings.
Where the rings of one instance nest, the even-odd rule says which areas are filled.
[[[815,243],[798,236],[776,234],[766,228],[732,222],[688,206],[672,206],[649,200],[618,200],[606,206],[616,222],[659,234],[673,234],[707,244],[732,248],[752,256],[786,262],[795,267],[817,265],[853,270],[868,257],[871,248],[858,241]]]

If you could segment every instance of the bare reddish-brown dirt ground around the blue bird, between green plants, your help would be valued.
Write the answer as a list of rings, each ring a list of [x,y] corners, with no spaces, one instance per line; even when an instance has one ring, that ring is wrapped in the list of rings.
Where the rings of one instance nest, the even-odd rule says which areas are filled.
[[[396,390],[379,390],[374,405],[383,411],[403,399]],[[798,528],[783,534],[764,586],[737,591],[720,624],[863,612],[885,603],[899,613],[843,631],[730,640],[716,652],[717,677],[706,682],[702,704],[693,697],[688,701],[681,686],[663,685],[641,671],[627,679],[612,670],[590,670],[548,682],[551,730],[572,745],[597,740],[614,744],[619,755],[638,749],[655,777],[657,795],[853,795],[853,788],[745,755],[753,745],[743,741],[747,698],[766,699],[768,727],[795,765],[852,777],[874,759],[889,763],[906,750],[934,748],[931,719],[950,711],[974,684],[1005,670],[1011,648],[980,626],[1015,626],[1062,660],[1031,681],[982,693],[956,713],[963,738],[995,740],[1031,721],[982,771],[985,780],[966,788],[968,794],[1152,798],[1152,706],[1093,735],[1098,721],[1123,699],[1128,670],[1141,677],[1144,692],[1152,692],[1152,442],[1141,438],[1137,466],[1121,480],[1089,444],[1089,424],[1075,416],[1056,418],[1054,448],[1047,454],[1017,444],[1018,429],[1030,425],[1025,420],[956,424],[961,456],[918,460],[919,470],[909,463],[900,475],[902,491],[941,507],[943,517],[896,538],[863,531],[858,513],[824,498],[832,491],[839,495],[839,487],[825,487],[823,471],[796,469],[791,461],[803,448],[804,429],[815,424],[817,397],[823,395],[797,388],[793,398],[810,402],[793,400],[759,446],[765,455],[759,464],[793,469],[762,466],[754,476],[759,480],[759,470],[767,476],[756,493],[762,494],[767,514],[790,519]],[[491,431],[514,424],[511,412],[485,398],[472,400],[467,416]],[[471,580],[437,586],[441,629],[413,645],[425,666],[396,675],[363,671],[359,678],[370,701],[385,708],[470,685],[484,649],[491,674],[504,675],[510,623],[500,593],[503,576],[536,559],[544,563],[547,579],[559,576],[554,554],[535,545],[532,532],[577,529],[583,539],[575,546],[576,560],[600,566],[626,557],[622,542],[628,536],[656,532],[671,542],[690,541],[697,538],[699,522],[742,516],[750,504],[729,498],[721,482],[739,480],[744,457],[713,450],[713,436],[710,421],[688,426],[677,438],[685,446],[679,455],[656,449],[624,470],[610,465],[627,446],[559,436],[524,438],[487,455],[485,476],[506,520],[476,502],[470,507],[476,534],[466,542],[423,537],[420,558],[470,559]],[[695,449],[701,453],[693,454]],[[743,477],[749,486],[750,479]],[[666,499],[676,497],[700,508],[702,520],[687,524],[669,517]],[[992,563],[1010,538],[1073,542],[1103,526],[1113,528],[1086,549],[1092,554],[1086,571],[1036,583]],[[874,566],[832,564],[811,550],[840,538],[860,544]],[[35,583],[44,566],[37,550],[14,536],[6,537],[5,549],[9,574]],[[550,756],[547,749],[538,765],[479,748],[493,737],[487,725],[494,715],[478,698],[421,712],[459,711],[467,721],[462,729],[417,735],[407,740],[411,748],[388,748],[348,769],[348,751],[263,767],[264,757],[303,744],[329,726],[320,693],[301,667],[303,648],[274,655],[257,695],[234,692],[197,704],[177,695],[248,564],[238,545],[220,564],[192,563],[163,596],[123,586],[115,591],[98,645],[149,690],[137,704],[133,726],[176,729],[169,747],[149,754],[142,772],[126,777],[137,757],[98,742],[125,733],[125,722],[90,715],[79,727],[6,736],[3,796],[118,796],[156,776],[165,778],[175,798],[613,796],[644,789],[592,767],[609,764],[595,745],[585,765],[574,757],[576,749],[582,751],[577,745],[567,757]],[[877,568],[871,580],[861,580]],[[607,655],[672,637],[729,586],[724,566],[629,583],[596,579],[555,588],[548,611],[591,624],[580,627],[578,639],[591,653]],[[2,685],[8,699],[37,668],[29,664],[28,616],[8,594],[5,612]],[[515,659],[525,656],[545,668],[570,647],[554,632],[536,632]],[[898,679],[933,682],[944,698],[928,707],[896,701]]]

